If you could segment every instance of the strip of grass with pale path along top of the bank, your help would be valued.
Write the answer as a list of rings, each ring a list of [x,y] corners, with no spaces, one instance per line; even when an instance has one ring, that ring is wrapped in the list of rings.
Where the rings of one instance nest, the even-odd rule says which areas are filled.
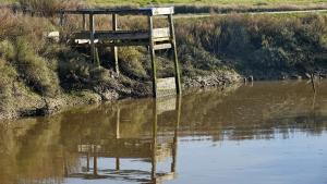
[[[4,0],[4,3],[28,2],[24,5],[39,4],[39,0]],[[326,10],[322,0],[47,0],[47,7],[66,7],[78,2],[83,7],[152,7],[174,5],[177,13],[228,13],[292,10]],[[44,5],[45,5],[44,4]],[[71,7],[73,8],[73,7]]]

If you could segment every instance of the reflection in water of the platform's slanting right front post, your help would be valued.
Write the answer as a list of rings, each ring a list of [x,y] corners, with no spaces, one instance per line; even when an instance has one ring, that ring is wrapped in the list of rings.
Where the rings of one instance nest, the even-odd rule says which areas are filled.
[[[177,164],[177,149],[178,149],[178,136],[179,136],[179,125],[181,121],[181,109],[182,109],[182,97],[179,95],[175,99],[175,112],[177,112],[177,121],[173,133],[173,142],[172,142],[172,163],[171,163],[171,172],[175,172]]]

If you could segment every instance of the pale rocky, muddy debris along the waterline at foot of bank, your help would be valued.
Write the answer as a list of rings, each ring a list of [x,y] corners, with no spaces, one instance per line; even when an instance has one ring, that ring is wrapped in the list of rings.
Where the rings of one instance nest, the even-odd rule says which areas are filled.
[[[184,77],[184,88],[201,88],[225,86],[241,81],[237,72],[216,71],[209,75]],[[140,98],[152,95],[150,82],[138,82],[128,77],[117,77],[110,84],[96,84],[93,88],[80,91],[63,93],[52,98],[38,95],[26,97],[22,105],[17,103],[10,110],[0,109],[1,119],[15,119],[22,116],[39,116],[58,113],[71,107],[113,101],[122,98]],[[1,108],[1,107],[0,107]]]

